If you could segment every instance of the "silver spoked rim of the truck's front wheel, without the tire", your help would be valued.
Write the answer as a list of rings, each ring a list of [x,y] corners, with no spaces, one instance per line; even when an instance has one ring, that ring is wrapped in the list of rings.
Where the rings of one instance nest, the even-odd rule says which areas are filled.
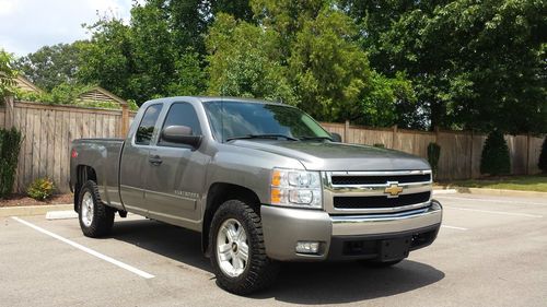
[[[222,272],[231,278],[237,278],[247,268],[247,233],[237,220],[229,219],[220,226],[217,234],[217,260]]]

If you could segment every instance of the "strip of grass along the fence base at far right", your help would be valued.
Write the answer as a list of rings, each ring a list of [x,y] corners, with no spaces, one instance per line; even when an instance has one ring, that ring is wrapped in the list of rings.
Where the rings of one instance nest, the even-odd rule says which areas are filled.
[[[450,187],[547,192],[547,175],[487,177],[462,181],[440,182],[440,185]]]

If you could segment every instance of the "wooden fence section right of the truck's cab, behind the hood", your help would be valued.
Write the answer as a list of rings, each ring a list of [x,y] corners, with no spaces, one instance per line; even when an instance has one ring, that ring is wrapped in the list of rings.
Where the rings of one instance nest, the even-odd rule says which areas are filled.
[[[346,123],[322,123],[330,132],[337,132],[348,143],[383,144],[411,153],[423,158],[428,157],[428,145],[435,142],[441,146],[439,161],[440,180],[468,179],[480,177],[480,155],[486,134],[468,131],[426,132],[393,128],[369,128]],[[532,135],[505,135],[511,157],[511,174],[537,174],[537,162],[544,139]]]

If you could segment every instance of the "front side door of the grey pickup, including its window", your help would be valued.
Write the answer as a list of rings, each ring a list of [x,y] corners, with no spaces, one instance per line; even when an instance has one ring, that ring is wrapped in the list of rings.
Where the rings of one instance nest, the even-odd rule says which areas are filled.
[[[162,129],[187,126],[194,135],[201,135],[201,126],[189,103],[170,105]],[[197,200],[205,185],[207,156],[189,145],[167,142],[160,137],[150,151],[147,208],[151,217],[196,228],[200,214]]]

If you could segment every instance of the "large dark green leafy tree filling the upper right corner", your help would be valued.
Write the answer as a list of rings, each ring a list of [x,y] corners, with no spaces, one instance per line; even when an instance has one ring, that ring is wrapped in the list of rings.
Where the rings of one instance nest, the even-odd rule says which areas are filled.
[[[430,128],[546,131],[547,2],[340,3],[362,25],[372,67],[388,76],[406,72],[415,113],[427,115]]]

